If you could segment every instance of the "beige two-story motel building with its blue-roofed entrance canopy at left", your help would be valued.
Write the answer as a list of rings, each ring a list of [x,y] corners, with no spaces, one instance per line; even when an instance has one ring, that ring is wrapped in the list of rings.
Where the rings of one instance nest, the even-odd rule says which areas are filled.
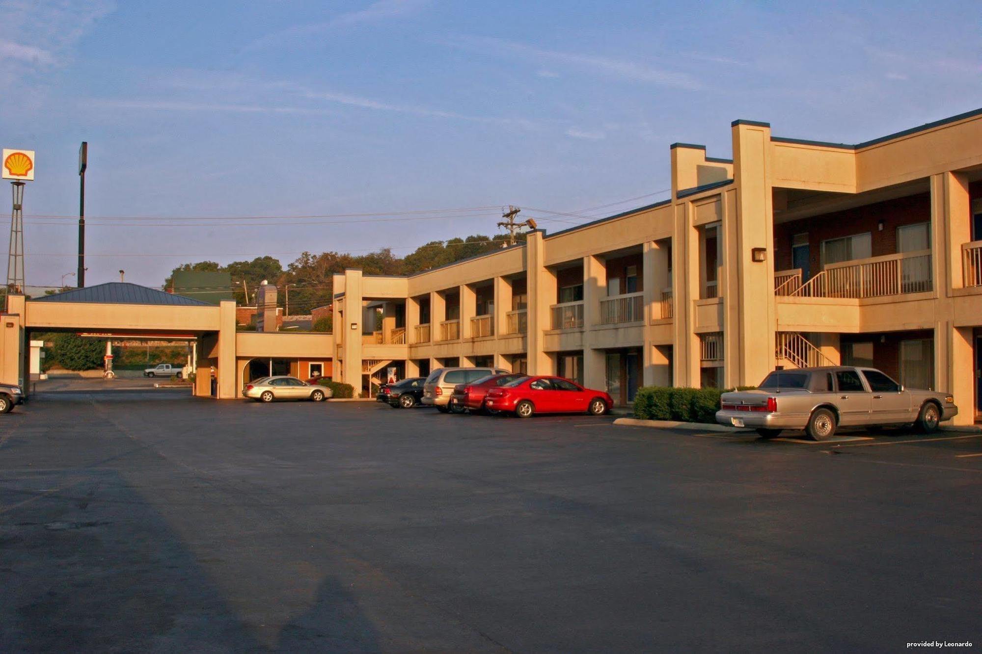
[[[493,364],[622,404],[646,384],[751,385],[841,362],[952,392],[955,421],[979,419],[982,110],[855,145],[736,121],[732,160],[671,153],[665,201],[409,277],[336,275],[333,336],[237,333],[233,302],[132,285],[11,296],[0,381],[23,379],[31,331],[187,332],[195,391],[218,398],[273,357],[295,374],[331,360],[355,388],[388,367]]]

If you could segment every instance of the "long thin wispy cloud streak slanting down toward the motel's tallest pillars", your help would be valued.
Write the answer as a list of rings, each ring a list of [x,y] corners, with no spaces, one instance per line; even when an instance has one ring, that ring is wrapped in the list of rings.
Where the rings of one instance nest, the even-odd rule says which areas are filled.
[[[492,48],[501,53],[516,54],[531,59],[537,64],[551,62],[566,64],[569,67],[589,71],[603,77],[627,80],[628,82],[647,82],[662,86],[699,90],[702,83],[686,73],[676,73],[652,66],[644,61],[633,61],[601,55],[545,48],[491,37],[457,37],[450,40],[451,45],[468,48]]]

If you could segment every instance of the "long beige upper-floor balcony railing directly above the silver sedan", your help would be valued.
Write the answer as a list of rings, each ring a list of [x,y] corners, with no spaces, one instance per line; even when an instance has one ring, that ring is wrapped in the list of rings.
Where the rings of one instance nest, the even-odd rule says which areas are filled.
[[[883,298],[932,289],[931,250],[832,263],[788,295],[795,298]]]

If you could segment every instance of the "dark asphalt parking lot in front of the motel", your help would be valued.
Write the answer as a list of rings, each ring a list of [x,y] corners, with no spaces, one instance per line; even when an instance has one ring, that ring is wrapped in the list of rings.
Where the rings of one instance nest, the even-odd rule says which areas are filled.
[[[0,416],[0,651],[978,642],[982,437],[71,385]]]

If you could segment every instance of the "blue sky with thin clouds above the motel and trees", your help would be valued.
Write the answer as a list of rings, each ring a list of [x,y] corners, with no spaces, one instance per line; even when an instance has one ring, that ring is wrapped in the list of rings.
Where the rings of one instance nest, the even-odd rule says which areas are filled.
[[[181,217],[599,216],[664,197],[672,142],[730,156],[736,118],[884,136],[982,106],[980,44],[977,2],[0,0],[0,143],[37,150],[28,285],[76,268],[75,223],[36,216],[77,212],[82,139],[87,283],[159,285],[203,258],[493,234],[497,209]]]

